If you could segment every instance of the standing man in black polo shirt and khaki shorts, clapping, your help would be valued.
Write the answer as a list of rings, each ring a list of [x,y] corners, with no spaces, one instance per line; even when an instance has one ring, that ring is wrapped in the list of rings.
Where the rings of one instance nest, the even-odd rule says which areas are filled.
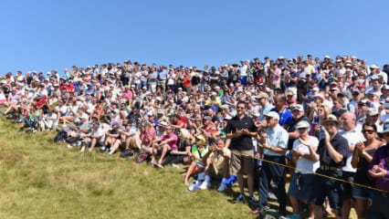
[[[231,172],[237,175],[237,183],[239,184],[240,194],[237,196],[237,203],[245,200],[243,174],[247,174],[249,201],[257,203],[253,196],[254,192],[254,170],[255,162],[252,158],[247,156],[237,155],[238,153],[254,156],[252,137],[257,135],[257,127],[254,121],[246,115],[245,102],[239,101],[237,103],[237,116],[229,120],[226,125],[226,138],[231,139],[229,149],[231,154]]]

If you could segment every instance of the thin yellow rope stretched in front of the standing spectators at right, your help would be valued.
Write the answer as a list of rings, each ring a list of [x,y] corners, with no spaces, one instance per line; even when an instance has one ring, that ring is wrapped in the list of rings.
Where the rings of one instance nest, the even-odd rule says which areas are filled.
[[[342,182],[342,183],[349,183],[349,184],[352,184],[352,185],[363,187],[365,189],[374,190],[374,191],[377,191],[377,192],[380,192],[380,193],[389,193],[389,191],[380,190],[380,189],[374,188],[372,186],[368,186],[368,185],[364,185],[364,184],[360,184],[360,183],[353,183],[353,182],[350,182],[350,181],[345,181],[345,180],[342,180],[342,179],[339,179],[339,178],[331,177],[331,176],[324,175],[324,174],[317,173],[317,172],[310,172],[310,171],[302,170],[300,168],[293,167],[293,166],[288,166],[286,164],[282,164],[282,163],[279,163],[279,162],[271,162],[271,161],[268,161],[268,160],[265,160],[265,159],[262,159],[262,158],[256,158],[254,156],[250,156],[250,155],[238,152],[238,151],[231,151],[231,152],[236,154],[236,155],[245,156],[245,157],[252,158],[252,159],[255,159],[255,160],[259,160],[259,161],[262,161],[262,162],[268,162],[268,163],[271,163],[271,164],[276,164],[276,165],[283,166],[283,167],[286,167],[286,168],[290,168],[290,169],[293,169],[293,170],[297,170],[297,171],[300,171],[300,172],[307,172],[307,173],[310,173],[310,174],[315,174],[315,175],[318,175],[318,176],[321,176],[321,177],[324,177],[324,178],[328,178],[328,179],[331,179],[331,180],[339,181],[339,182]]]

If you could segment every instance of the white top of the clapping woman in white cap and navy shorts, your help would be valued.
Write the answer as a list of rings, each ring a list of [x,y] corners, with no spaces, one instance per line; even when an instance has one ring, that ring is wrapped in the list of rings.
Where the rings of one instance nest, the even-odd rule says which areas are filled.
[[[314,137],[310,136],[310,140],[308,141],[310,143],[310,146],[312,148],[318,148],[319,140]],[[304,154],[310,154],[310,149],[307,145],[300,143],[300,140],[297,139],[293,142],[293,150],[299,150]],[[312,162],[308,159],[305,159],[303,157],[300,157],[299,160],[296,163],[296,168],[302,169],[307,172],[301,172],[300,170],[296,170],[295,172],[301,172],[302,174],[307,174],[311,172],[316,172],[316,170],[319,168],[320,162]]]

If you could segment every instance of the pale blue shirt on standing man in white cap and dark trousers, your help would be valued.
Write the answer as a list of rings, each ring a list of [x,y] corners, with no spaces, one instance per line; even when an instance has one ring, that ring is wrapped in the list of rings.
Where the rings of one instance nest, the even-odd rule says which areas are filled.
[[[288,148],[289,134],[288,131],[282,128],[280,125],[277,125],[274,129],[266,129],[268,136],[266,137],[266,143],[272,148]],[[284,154],[270,151],[265,149],[264,154],[269,156],[284,156]]]

